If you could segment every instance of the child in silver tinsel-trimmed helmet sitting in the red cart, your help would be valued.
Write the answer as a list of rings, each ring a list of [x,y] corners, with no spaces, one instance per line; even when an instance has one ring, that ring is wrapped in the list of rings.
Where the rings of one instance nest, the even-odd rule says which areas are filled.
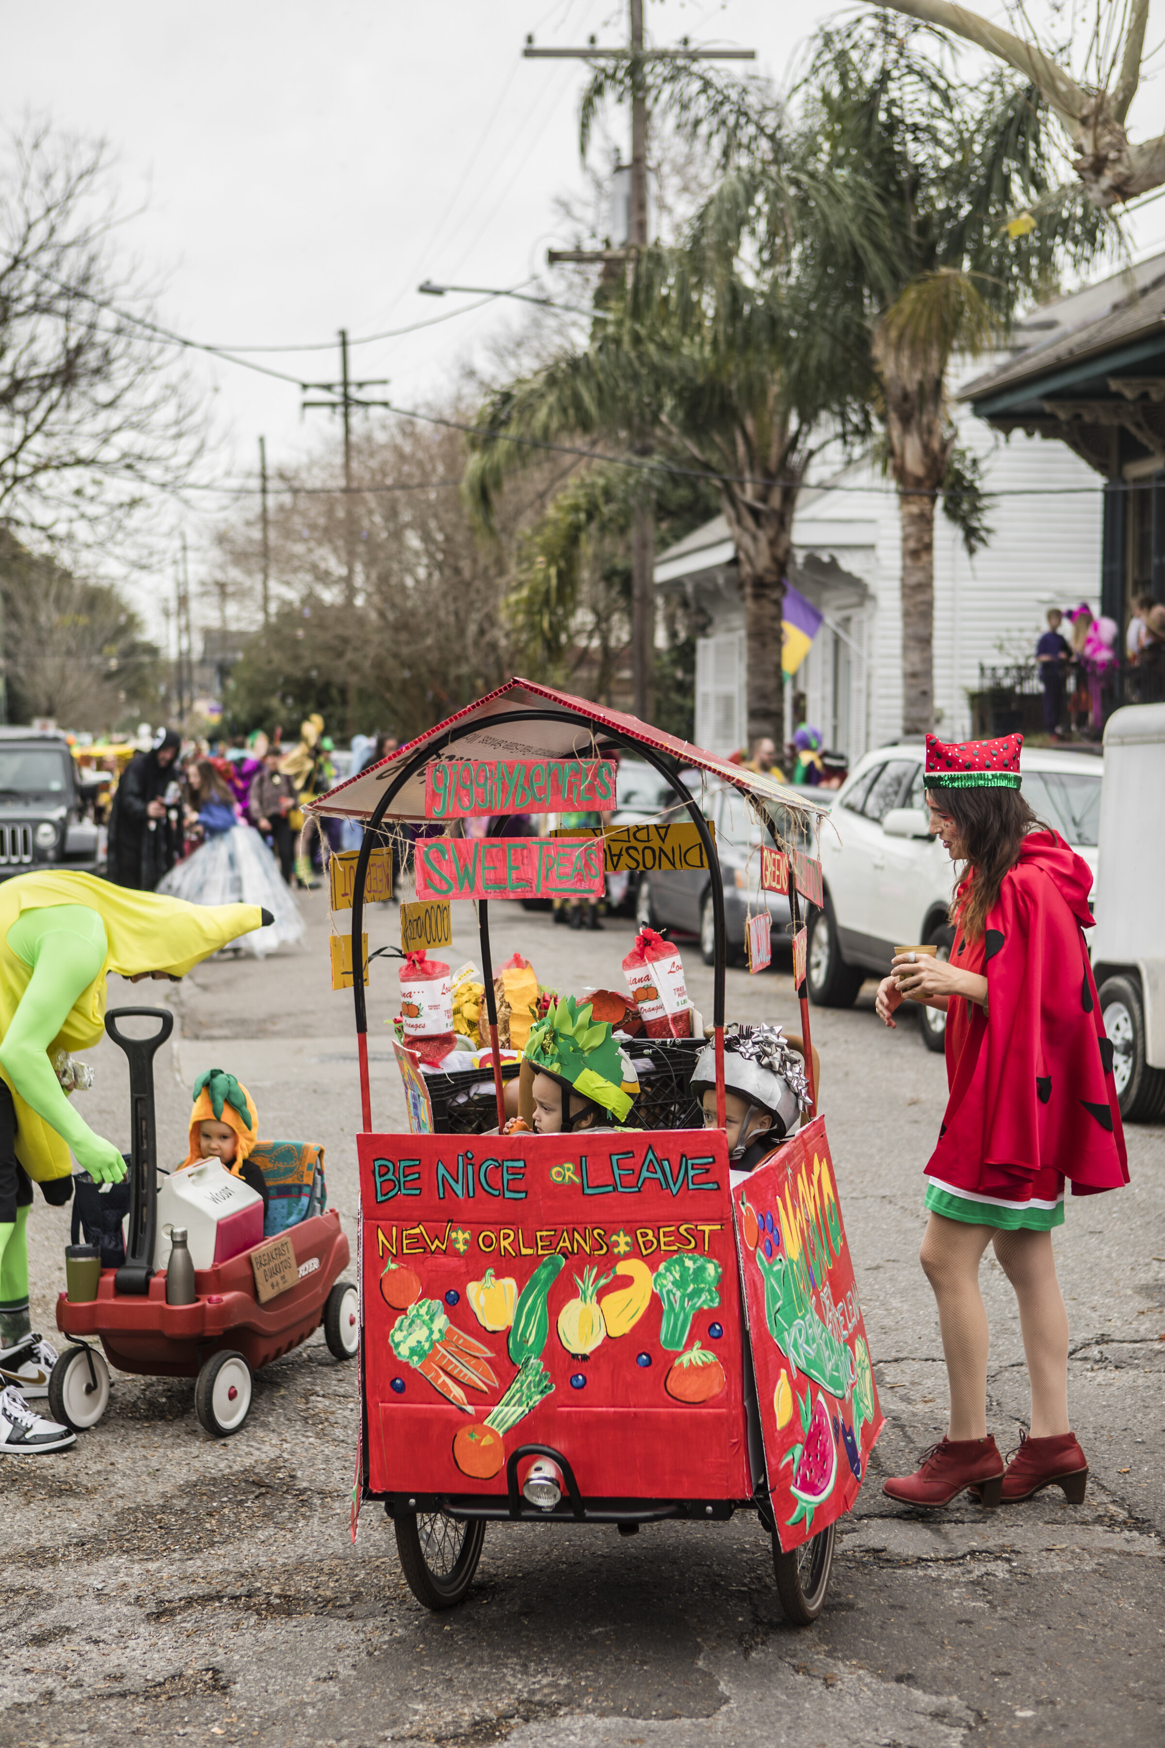
[[[707,1045],[692,1075],[704,1126],[716,1124],[716,1049]],[[741,1026],[725,1035],[725,1134],[732,1178],[755,1171],[809,1110],[802,1058],[781,1026]]]

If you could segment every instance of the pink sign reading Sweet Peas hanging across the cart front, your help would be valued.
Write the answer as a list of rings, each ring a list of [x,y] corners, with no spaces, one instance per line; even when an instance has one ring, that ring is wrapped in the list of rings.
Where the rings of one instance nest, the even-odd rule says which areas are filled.
[[[603,897],[601,837],[419,837],[417,898]]]

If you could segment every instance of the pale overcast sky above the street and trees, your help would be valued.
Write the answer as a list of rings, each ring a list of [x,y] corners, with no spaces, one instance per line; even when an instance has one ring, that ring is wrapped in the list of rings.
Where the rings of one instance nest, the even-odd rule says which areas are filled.
[[[650,0],[650,37],[748,45],[782,79],[831,0]],[[985,10],[996,10],[985,7]],[[337,374],[335,332],[431,320],[472,299],[423,297],[423,278],[514,287],[548,245],[569,243],[555,196],[582,194],[576,61],[524,61],[541,45],[625,37],[611,0],[0,0],[0,114],[105,136],[128,208],[126,248],[164,281],[162,320],[225,346],[320,343],[255,355],[295,378]],[[1153,24],[1149,38],[1155,38]],[[1153,110],[1156,91],[1144,94]],[[1134,117],[1135,119],[1135,117]],[[613,115],[613,131],[625,126]],[[1135,220],[1165,238],[1165,203]],[[437,397],[520,306],[493,302],[360,346],[353,372],[389,378],[400,406]],[[330,414],[299,390],[204,355],[217,479],[252,482],[293,460]],[[196,533],[196,530],[192,530]],[[155,628],[157,629],[157,628]]]

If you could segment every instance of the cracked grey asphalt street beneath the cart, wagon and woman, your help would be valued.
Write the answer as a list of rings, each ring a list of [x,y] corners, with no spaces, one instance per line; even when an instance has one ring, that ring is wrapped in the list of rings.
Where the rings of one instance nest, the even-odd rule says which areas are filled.
[[[185,1152],[190,1084],[222,1066],[252,1091],[260,1133],[327,1147],[328,1192],[355,1239],[360,1122],[351,996],[328,977],[325,893],[300,900],[304,951],[220,958],[168,1000],[157,1059],[159,1152]],[[475,958],[466,905],[449,954]],[[620,982],[632,925],[599,935],[493,905],[494,963],[520,947],[561,989]],[[377,907],[372,946],[395,944]],[[685,946],[711,1012],[711,972]],[[403,1126],[386,1017],[395,967],[370,991],[377,1127]],[[115,979],[112,979],[115,984]],[[152,986],[154,1000],[161,986]],[[166,998],[166,996],[164,996]],[[110,1007],[141,989],[112,988]],[[728,972],[728,1017],[796,1030],[788,961]],[[1092,1477],[987,1512],[915,1516],[882,1496],[945,1428],[945,1374],[917,1264],[920,1168],[945,1070],[917,1028],[886,1031],[873,984],[852,1012],[814,1010],[821,1108],[854,1252],[887,1426],[842,1523],[824,1613],[789,1627],[770,1545],[728,1524],[491,1526],[466,1603],[430,1615],[409,1592],[391,1524],[365,1507],[349,1540],[356,1370],[314,1335],[255,1379],[245,1428],[222,1442],[192,1384],[115,1374],[105,1419],[58,1456],[0,1458],[0,1743],[383,1741],[512,1748],[900,1745],[1123,1748],[1165,1739],[1162,1467],[1165,1129],[1128,1133],[1132,1183],[1069,1206],[1057,1238],[1072,1325],[1071,1404]],[[128,1147],[128,1077],[108,1042],[84,1094]],[[31,1218],[33,1311],[54,1332],[68,1210]],[[1025,1374],[1011,1292],[983,1264],[992,1320],[990,1426],[1018,1442]]]

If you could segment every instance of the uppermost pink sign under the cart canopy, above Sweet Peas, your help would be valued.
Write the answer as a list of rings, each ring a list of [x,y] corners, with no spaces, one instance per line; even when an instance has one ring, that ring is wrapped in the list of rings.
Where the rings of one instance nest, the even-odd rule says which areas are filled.
[[[424,767],[426,820],[613,808],[611,759],[433,759]]]

